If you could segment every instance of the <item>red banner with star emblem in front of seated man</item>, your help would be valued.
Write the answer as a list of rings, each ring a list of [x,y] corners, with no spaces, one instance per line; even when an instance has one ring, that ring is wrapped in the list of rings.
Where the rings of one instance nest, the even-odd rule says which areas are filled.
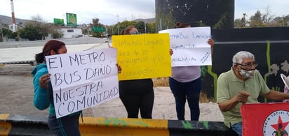
[[[288,136],[289,103],[255,103],[241,106],[243,136]]]

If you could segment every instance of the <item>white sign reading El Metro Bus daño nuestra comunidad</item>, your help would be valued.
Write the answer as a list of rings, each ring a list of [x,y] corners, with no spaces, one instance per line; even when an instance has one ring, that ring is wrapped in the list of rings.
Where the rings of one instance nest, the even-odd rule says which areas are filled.
[[[57,118],[119,97],[116,49],[46,56]]]

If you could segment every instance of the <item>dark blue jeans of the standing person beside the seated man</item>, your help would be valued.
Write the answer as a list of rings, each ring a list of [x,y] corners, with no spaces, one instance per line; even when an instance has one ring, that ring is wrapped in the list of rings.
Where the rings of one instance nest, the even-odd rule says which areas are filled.
[[[201,77],[191,82],[178,82],[170,77],[170,90],[175,97],[175,109],[177,110],[177,119],[184,120],[184,106],[186,99],[191,111],[191,121],[199,121],[200,107],[199,99],[201,92]]]

